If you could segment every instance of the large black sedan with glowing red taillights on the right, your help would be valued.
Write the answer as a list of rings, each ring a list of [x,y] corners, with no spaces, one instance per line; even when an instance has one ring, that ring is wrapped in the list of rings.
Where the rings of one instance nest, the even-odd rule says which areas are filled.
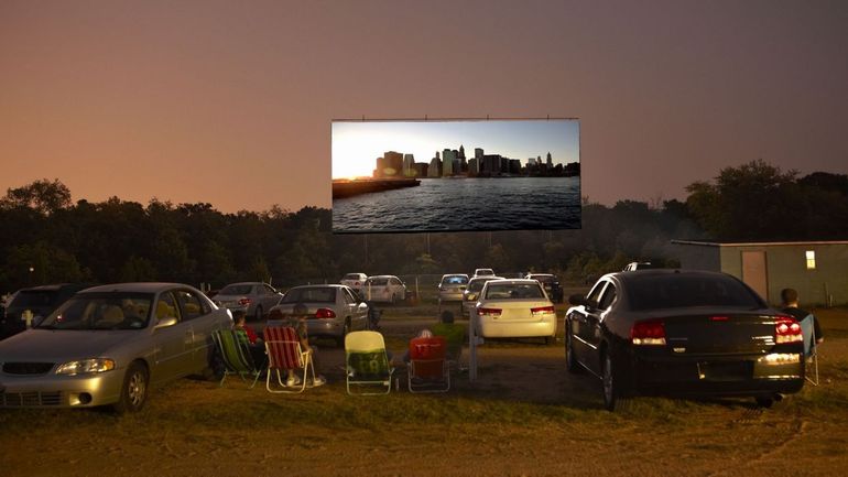
[[[609,410],[634,393],[753,397],[768,406],[804,384],[801,326],[731,275],[610,273],[569,302],[566,366],[601,379]]]

